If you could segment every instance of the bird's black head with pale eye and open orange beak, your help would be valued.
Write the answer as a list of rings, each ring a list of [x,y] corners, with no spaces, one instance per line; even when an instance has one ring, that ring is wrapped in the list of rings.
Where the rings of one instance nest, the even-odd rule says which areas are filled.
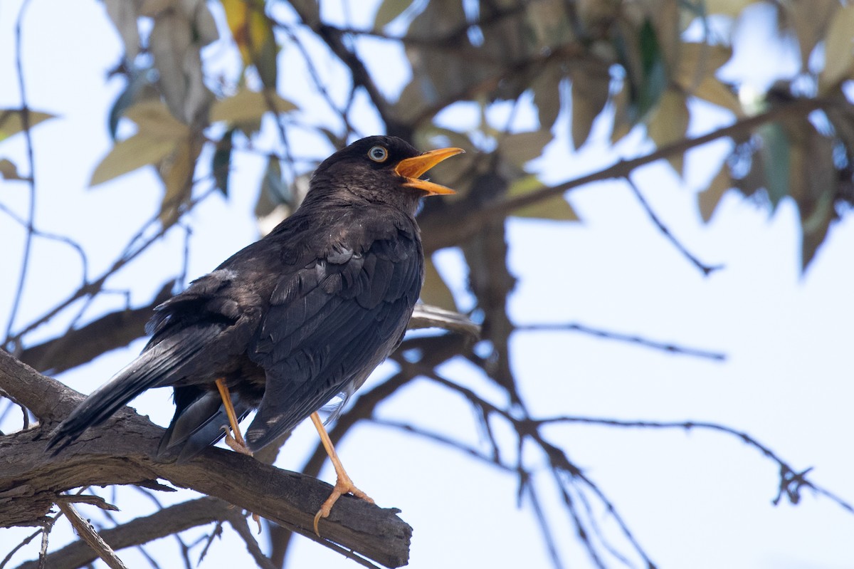
[[[439,162],[464,151],[443,148],[419,152],[402,138],[362,138],[320,163],[312,177],[310,194],[346,192],[414,214],[420,198],[454,193],[421,176]]]

